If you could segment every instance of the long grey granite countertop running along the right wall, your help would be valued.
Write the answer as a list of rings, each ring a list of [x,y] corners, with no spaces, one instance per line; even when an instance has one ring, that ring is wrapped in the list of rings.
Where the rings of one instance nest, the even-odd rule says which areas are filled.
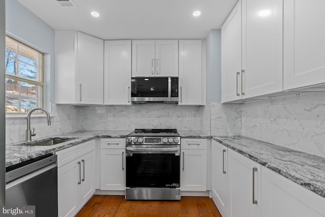
[[[325,158],[244,136],[212,139],[325,197]]]

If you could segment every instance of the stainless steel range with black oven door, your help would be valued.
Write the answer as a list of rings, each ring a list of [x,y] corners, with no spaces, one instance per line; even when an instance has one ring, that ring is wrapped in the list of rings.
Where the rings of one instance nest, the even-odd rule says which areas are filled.
[[[136,129],[126,137],[127,200],[180,200],[176,129]]]

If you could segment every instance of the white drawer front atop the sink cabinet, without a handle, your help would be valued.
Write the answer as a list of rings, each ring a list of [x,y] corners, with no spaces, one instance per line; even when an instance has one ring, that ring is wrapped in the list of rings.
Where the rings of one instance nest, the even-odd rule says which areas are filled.
[[[57,167],[63,166],[64,164],[67,164],[94,149],[95,149],[95,140],[92,139],[90,141],[83,142],[63,150],[59,150],[56,152]]]

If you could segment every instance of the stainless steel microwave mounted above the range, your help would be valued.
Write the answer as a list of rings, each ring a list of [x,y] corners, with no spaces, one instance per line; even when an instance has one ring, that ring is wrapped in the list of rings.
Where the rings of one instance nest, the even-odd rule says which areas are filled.
[[[132,77],[131,101],[136,104],[177,104],[178,77]]]

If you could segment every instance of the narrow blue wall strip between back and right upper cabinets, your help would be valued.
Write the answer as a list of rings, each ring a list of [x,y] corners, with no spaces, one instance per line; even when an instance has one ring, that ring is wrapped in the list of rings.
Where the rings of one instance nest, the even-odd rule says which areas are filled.
[[[221,30],[211,29],[207,39],[206,104],[221,102]]]

